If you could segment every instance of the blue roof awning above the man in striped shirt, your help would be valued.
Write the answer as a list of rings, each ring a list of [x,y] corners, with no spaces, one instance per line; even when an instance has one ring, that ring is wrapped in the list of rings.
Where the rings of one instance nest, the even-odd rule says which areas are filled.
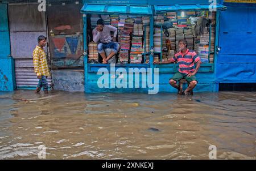
[[[168,11],[180,11],[180,10],[209,10],[209,4],[192,4],[192,5],[155,5],[155,12],[168,12]],[[217,9],[225,9],[224,5],[217,4]]]

